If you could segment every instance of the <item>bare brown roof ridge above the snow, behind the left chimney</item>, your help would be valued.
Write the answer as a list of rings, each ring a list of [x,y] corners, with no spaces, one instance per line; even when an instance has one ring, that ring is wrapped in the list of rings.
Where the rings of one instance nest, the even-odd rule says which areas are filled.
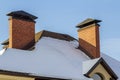
[[[66,40],[66,41],[73,41],[76,40],[75,38],[67,35],[67,34],[60,34],[60,33],[56,33],[56,32],[50,32],[47,30],[42,30],[38,33],[35,34],[35,42],[38,42],[39,39],[41,39],[42,37],[52,37],[55,39],[60,39],[60,40]],[[5,40],[4,42],[1,43],[2,45],[5,45],[3,48],[7,48],[8,44],[9,44],[9,39]]]

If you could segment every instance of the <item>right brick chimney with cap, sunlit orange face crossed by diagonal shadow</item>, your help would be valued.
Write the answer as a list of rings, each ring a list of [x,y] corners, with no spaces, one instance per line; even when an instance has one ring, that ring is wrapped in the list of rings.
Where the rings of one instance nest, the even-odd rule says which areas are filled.
[[[99,22],[88,18],[77,25],[79,48],[92,59],[100,57]]]

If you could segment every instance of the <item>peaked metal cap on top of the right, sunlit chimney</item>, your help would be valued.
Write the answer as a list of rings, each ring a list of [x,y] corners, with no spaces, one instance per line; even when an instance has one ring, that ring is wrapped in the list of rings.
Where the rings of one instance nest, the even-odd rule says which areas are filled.
[[[76,27],[77,28],[83,28],[83,27],[86,27],[90,24],[93,24],[93,23],[98,23],[98,22],[101,22],[101,20],[97,20],[97,19],[92,19],[92,18],[87,18],[86,20],[84,20],[83,22],[79,23]]]

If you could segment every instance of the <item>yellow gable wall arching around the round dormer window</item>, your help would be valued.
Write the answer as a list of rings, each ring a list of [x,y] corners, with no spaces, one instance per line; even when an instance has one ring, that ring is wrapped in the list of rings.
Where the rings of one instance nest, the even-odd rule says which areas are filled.
[[[104,80],[110,80],[111,78],[110,74],[105,70],[105,68],[101,64],[99,64],[89,76],[92,77],[95,73],[102,74]]]

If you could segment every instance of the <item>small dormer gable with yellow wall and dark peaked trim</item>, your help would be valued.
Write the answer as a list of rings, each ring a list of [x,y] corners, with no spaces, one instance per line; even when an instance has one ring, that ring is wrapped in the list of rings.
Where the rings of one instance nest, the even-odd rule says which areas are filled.
[[[98,73],[98,74],[102,74],[103,76],[107,76],[106,79],[112,78],[116,80],[118,78],[117,75],[109,67],[109,65],[105,62],[103,58],[100,58],[100,59],[98,58],[98,60],[97,59],[89,60],[89,61],[86,61],[84,64],[93,63],[93,62],[95,62],[94,65],[92,64],[92,67],[89,68],[89,70],[86,71],[86,73],[84,73],[85,76],[91,77],[92,75]],[[89,66],[84,66],[84,67],[89,67]]]

